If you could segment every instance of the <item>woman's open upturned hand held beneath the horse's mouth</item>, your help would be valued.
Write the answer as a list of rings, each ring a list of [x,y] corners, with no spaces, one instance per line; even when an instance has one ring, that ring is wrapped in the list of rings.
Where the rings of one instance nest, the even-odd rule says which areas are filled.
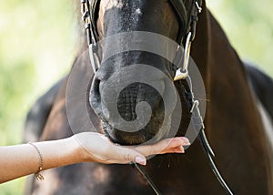
[[[96,161],[105,164],[126,164],[136,162],[146,165],[147,156],[165,153],[184,153],[183,146],[189,145],[186,138],[164,139],[152,145],[119,146],[105,135],[84,132],[73,136],[80,146],[84,161]]]

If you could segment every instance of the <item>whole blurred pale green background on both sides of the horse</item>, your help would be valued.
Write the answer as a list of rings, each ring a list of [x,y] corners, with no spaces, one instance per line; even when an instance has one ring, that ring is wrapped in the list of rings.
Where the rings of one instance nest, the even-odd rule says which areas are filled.
[[[27,110],[69,71],[76,54],[76,3],[0,0],[0,145],[21,142]],[[239,56],[273,76],[272,0],[207,5]],[[23,194],[24,181],[0,185],[0,194]]]

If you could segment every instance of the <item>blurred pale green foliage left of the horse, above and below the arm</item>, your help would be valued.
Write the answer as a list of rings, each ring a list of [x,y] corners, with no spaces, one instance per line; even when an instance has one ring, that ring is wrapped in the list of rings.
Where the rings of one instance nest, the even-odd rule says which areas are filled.
[[[27,110],[71,67],[77,16],[72,4],[0,1],[0,145],[22,142]],[[24,179],[0,185],[1,195],[23,190]]]

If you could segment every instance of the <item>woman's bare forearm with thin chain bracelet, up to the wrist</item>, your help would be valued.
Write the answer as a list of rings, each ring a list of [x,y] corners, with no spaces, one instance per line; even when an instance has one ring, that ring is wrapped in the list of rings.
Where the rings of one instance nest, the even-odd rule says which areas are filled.
[[[43,169],[51,169],[83,160],[76,140],[71,137],[34,143],[43,158]],[[40,157],[34,146],[23,144],[0,147],[0,183],[37,172]]]

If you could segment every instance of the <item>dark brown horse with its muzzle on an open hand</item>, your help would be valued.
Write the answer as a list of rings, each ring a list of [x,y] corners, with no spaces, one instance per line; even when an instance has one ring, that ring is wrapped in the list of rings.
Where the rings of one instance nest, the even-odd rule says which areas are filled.
[[[186,15],[176,13],[171,2],[178,0],[96,1],[93,19],[97,36],[102,39],[124,32],[146,31],[174,41],[182,39],[185,43],[187,23],[182,26],[181,20],[186,20]],[[188,14],[190,7],[197,5],[196,8],[201,8],[198,2],[187,0],[180,3],[186,7]],[[273,96],[272,79],[240,60],[217,20],[207,9],[206,2],[203,2],[202,11],[196,19],[191,57],[206,87],[204,124],[207,140],[215,152],[217,168],[230,190],[236,194],[273,194],[273,131],[269,126],[273,118],[269,100]],[[126,41],[117,39],[116,43],[126,44]],[[86,48],[86,45],[82,45],[80,51]],[[101,50],[102,57],[106,56],[107,48]],[[151,122],[133,133],[120,132],[107,123],[115,116],[106,114],[108,108],[101,101],[101,88],[121,67],[141,63],[157,67],[168,79],[174,77],[172,63],[146,51],[123,52],[103,61],[93,78],[84,75],[89,73],[85,70],[90,69],[88,56],[76,56],[73,65],[83,69],[82,77],[90,77],[87,98],[82,100],[88,103],[88,118],[92,118],[102,133],[119,144],[141,144],[154,137],[160,129],[165,129],[160,127],[162,112],[165,111],[160,94],[150,92],[146,85],[139,83],[130,87],[132,91],[126,89],[126,95],[120,97],[120,113],[126,120],[136,119],[136,97],[141,97],[150,104]],[[162,87],[165,83],[161,77],[156,75],[153,79],[159,83],[160,90],[166,90]],[[73,135],[66,113],[68,82],[68,77],[63,78],[37,100],[27,116],[25,141],[63,139]],[[181,83],[174,82],[174,85],[178,91],[177,99],[186,109],[177,131],[177,135],[183,135],[190,117]],[[268,125],[265,125],[264,118],[268,118]],[[186,154],[153,157],[142,169],[162,194],[225,194],[197,141],[191,144]],[[154,194],[149,182],[131,165],[81,163],[45,170],[44,176],[43,182],[29,179],[25,194]]]

